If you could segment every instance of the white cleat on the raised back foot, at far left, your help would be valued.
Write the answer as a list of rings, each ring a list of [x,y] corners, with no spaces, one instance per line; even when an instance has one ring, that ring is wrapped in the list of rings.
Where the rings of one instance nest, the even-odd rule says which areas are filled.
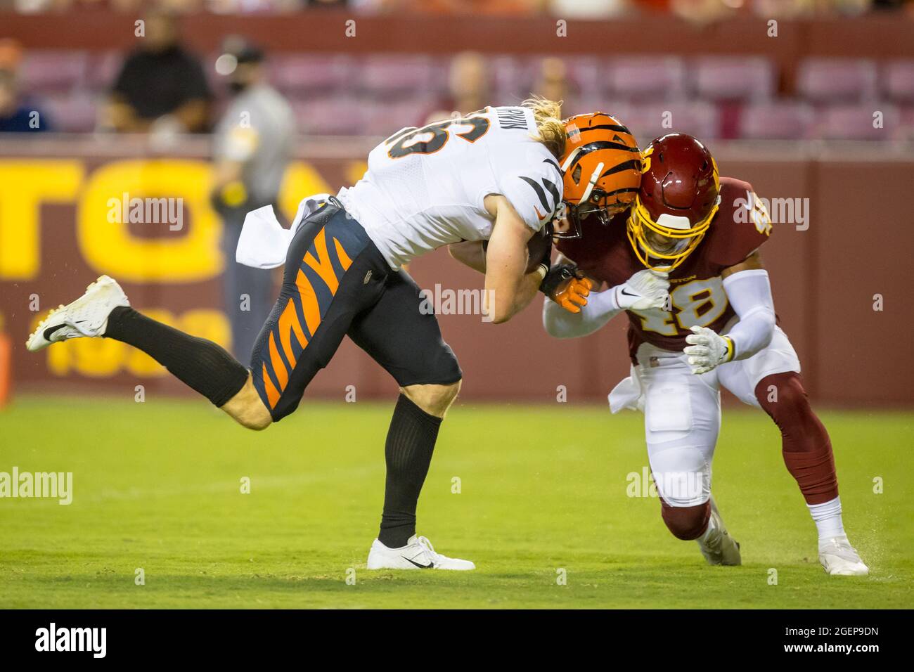
[[[35,352],[67,338],[101,336],[108,326],[108,315],[119,305],[130,305],[127,294],[117,281],[102,275],[76,301],[52,310],[28,336],[26,347]]]

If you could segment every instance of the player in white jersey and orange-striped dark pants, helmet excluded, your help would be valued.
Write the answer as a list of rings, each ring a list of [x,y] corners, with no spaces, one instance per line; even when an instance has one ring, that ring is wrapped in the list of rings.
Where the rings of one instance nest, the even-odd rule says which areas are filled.
[[[114,338],[154,357],[241,425],[262,430],[295,410],[305,387],[349,336],[400,388],[385,447],[384,510],[368,569],[472,570],[473,562],[447,558],[416,536],[420,489],[462,373],[435,315],[420,309],[419,287],[401,267],[441,245],[488,240],[484,310],[491,321],[510,319],[541,286],[578,310],[586,300],[577,296],[570,304],[567,292],[576,279],[550,276],[547,255],[530,263],[527,253],[528,241],[563,202],[560,165],[569,153],[558,109],[541,99],[489,107],[405,128],[379,144],[355,187],[341,189],[296,222],[282,291],[250,367],[211,341],[134,310],[107,276],[49,315],[27,347],[80,336]],[[593,156],[610,151],[591,149]],[[564,197],[567,206],[605,200],[594,188],[600,171],[577,171],[575,179],[590,181],[590,189],[582,199]]]

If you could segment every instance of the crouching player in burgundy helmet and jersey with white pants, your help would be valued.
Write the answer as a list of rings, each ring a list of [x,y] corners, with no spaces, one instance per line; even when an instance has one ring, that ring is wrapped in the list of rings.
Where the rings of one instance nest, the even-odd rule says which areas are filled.
[[[612,412],[644,413],[661,513],[678,539],[696,539],[711,564],[740,563],[711,497],[720,427],[719,388],[766,411],[781,430],[784,462],[819,533],[829,574],[862,575],[845,535],[828,433],[810,408],[800,361],[777,325],[759,249],[771,220],[747,182],[720,178],[707,148],[682,133],[643,152],[630,212],[608,226],[585,219],[560,240],[564,260],[593,285],[579,313],[544,307],[552,336],[585,336],[623,310],[632,375],[610,394]]]

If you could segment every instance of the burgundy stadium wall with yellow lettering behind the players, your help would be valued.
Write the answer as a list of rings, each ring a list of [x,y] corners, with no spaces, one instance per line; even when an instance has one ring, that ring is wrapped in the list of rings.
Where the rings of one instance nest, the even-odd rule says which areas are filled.
[[[303,144],[283,183],[285,216],[305,195],[354,182],[365,169],[366,144]],[[911,405],[912,300],[903,273],[914,229],[898,204],[908,200],[914,151],[772,143],[720,143],[712,150],[723,175],[749,180],[761,197],[796,208],[790,221],[774,224],[763,258],[813,398]],[[14,341],[15,389],[185,391],[149,357],[115,341],[76,339],[27,353],[23,343],[37,320],[101,273],[121,280],[139,309],[229,345],[220,298],[227,261],[218,246],[221,224],[207,201],[207,155],[202,139],[165,152],[124,137],[0,145],[0,312]],[[182,229],[112,221],[109,200],[123,194],[181,197]],[[443,250],[415,261],[409,272],[431,292],[436,283],[452,291],[482,283]],[[558,341],[543,332],[537,302],[505,325],[484,324],[479,315],[441,315],[441,326],[464,370],[464,400],[553,402],[565,386],[569,400],[601,402],[628,372],[624,320],[587,338]],[[349,385],[358,399],[394,391],[384,371],[346,341],[307,394],[338,399]]]

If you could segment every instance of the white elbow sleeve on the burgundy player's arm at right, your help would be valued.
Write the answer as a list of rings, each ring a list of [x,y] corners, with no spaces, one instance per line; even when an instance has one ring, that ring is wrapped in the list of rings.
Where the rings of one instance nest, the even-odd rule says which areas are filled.
[[[730,329],[734,359],[747,359],[771,344],[777,322],[768,272],[763,269],[733,273],[724,279],[724,289],[739,323]]]

